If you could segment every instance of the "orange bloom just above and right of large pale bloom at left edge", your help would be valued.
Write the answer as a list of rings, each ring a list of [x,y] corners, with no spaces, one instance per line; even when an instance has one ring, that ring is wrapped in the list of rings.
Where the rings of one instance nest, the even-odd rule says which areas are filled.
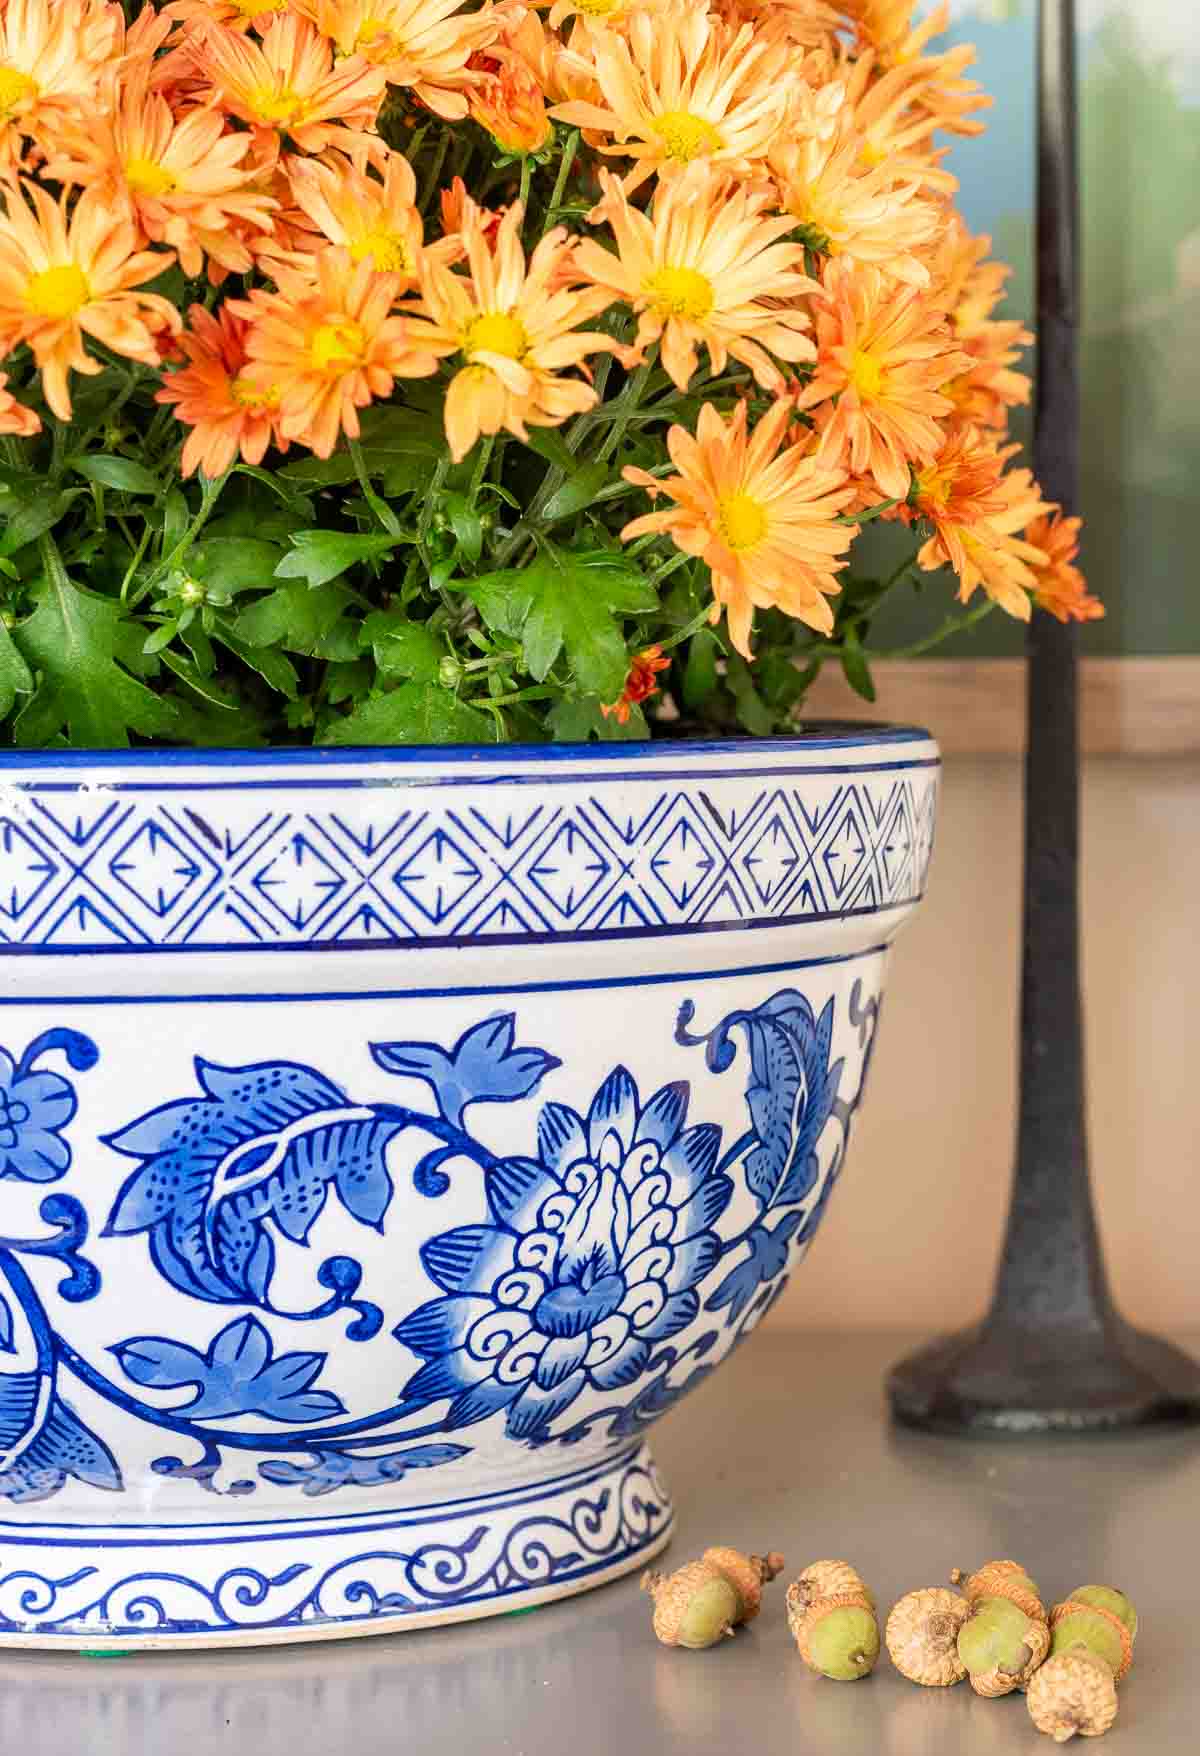
[[[202,272],[206,255],[227,274],[246,274],[253,256],[242,239],[269,232],[278,205],[248,188],[249,146],[251,135],[227,133],[218,112],[176,119],[165,98],[128,84],[111,114],[63,130],[46,176],[128,205],[148,239],[179,253],[188,276]]]

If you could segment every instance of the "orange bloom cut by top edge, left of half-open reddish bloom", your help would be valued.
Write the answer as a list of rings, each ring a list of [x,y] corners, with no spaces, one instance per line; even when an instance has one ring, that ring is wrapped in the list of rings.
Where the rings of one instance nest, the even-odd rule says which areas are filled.
[[[464,0],[292,0],[339,54],[365,56],[390,86],[406,86],[446,121],[467,114],[466,93],[478,83],[467,61],[497,32],[492,7],[462,7]]]

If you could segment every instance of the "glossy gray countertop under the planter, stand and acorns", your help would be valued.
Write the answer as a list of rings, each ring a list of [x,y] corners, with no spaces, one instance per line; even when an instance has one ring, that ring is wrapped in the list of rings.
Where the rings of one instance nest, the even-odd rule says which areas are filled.
[[[1200,1338],[1191,1338],[1193,1349]],[[750,1631],[712,1652],[650,1635],[636,1579],[425,1633],[225,1654],[0,1658],[5,1756],[1033,1756],[1024,1698],[810,1675],[784,1584],[845,1556],[880,1608],[1016,1556],[1047,1596],[1119,1584],[1140,1612],[1112,1756],[1200,1749],[1200,1429],[940,1440],[889,1426],[891,1335],[755,1336],[655,1429],[678,1505],[669,1561],[782,1549]],[[1086,1745],[1091,1749],[1093,1745]]]

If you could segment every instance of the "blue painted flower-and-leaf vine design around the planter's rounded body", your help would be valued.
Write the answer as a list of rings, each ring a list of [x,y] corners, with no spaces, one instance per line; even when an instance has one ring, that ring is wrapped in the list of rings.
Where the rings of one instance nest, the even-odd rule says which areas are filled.
[[[856,983],[847,1022],[863,1062],[875,1018],[877,1001],[863,1003]],[[624,1066],[578,1110],[541,1101],[560,1062],[520,1040],[515,1013],[480,1018],[452,1045],[372,1043],[388,1080],[425,1089],[416,1106],[394,1101],[392,1085],[355,1099],[300,1062],[197,1057],[192,1092],[102,1141],[134,1161],[102,1236],[144,1240],[163,1282],[223,1308],[220,1321],[202,1345],[153,1333],[116,1340],[112,1375],[102,1370],[51,1326],[23,1266],[56,1259],[69,1303],[98,1291],[84,1205],[47,1196],[47,1236],[0,1238],[0,1494],[47,1498],[69,1477],[121,1489],[105,1438],[63,1394],[70,1380],[181,1443],[183,1454],[153,1461],[156,1473],[214,1494],[253,1494],[262,1482],[309,1498],[383,1486],[453,1465],[471,1450],[462,1436],[485,1422],[534,1447],[578,1443],[594,1429],[636,1438],[782,1289],[824,1212],[861,1094],[861,1082],[843,1092],[845,1059],[833,1057],[833,999],[817,1013],[784,989],[708,1031],[694,1022],[685,1003],[675,1040],[703,1048],[710,1076],[745,1069],[747,1126],[734,1140],[692,1119],[690,1082],[643,1090]],[[76,1089],[44,1066],[53,1055],[86,1075],[98,1050],[79,1033],[47,1031],[19,1057],[0,1052],[0,1162],[11,1178],[42,1184],[70,1169]],[[488,1108],[534,1099],[531,1150],[495,1152]],[[281,1347],[274,1322],[344,1313],[353,1345],[381,1333],[383,1310],[364,1296],[371,1287],[353,1256],[320,1259],[314,1301],[281,1306],[278,1240],[311,1249],[330,1203],[387,1234],[399,1162],[388,1148],[401,1136],[423,1198],[436,1203],[453,1178],[474,1177],[485,1219],[430,1227],[420,1249],[430,1296],[390,1331],[420,1364],[399,1366],[390,1407],[351,1417],[329,1356]],[[253,1473],[230,1480],[237,1457]]]

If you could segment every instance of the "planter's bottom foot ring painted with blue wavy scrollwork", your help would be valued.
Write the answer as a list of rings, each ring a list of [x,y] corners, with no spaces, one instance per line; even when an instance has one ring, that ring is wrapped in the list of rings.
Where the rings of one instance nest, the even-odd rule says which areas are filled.
[[[0,1524],[0,1649],[139,1652],[399,1633],[631,1573],[673,1512],[650,1452],[474,1500],[262,1522]],[[546,1456],[546,1463],[550,1457]]]

